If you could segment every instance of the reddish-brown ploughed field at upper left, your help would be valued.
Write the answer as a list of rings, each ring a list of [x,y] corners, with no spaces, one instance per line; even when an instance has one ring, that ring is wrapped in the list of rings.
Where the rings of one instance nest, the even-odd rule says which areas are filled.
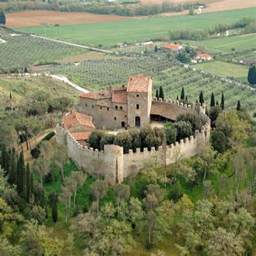
[[[6,25],[10,27],[66,25],[123,21],[124,19],[131,19],[131,17],[89,14],[86,12],[21,11],[14,14],[6,14]]]

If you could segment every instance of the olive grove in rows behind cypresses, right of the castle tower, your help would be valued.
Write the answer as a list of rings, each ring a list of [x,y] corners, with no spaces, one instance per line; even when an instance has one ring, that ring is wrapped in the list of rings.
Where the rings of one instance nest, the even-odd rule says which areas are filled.
[[[156,90],[163,86],[165,98],[176,99],[180,97],[181,88],[184,87],[188,101],[193,103],[199,99],[199,93],[203,91],[206,105],[210,105],[211,93],[214,93],[215,100],[220,103],[221,93],[225,94],[225,106],[227,109],[234,108],[238,100],[241,105],[253,114],[256,109],[256,91],[250,87],[240,87],[234,84],[221,82],[215,78],[181,66],[161,72],[160,75],[153,77],[153,85]]]

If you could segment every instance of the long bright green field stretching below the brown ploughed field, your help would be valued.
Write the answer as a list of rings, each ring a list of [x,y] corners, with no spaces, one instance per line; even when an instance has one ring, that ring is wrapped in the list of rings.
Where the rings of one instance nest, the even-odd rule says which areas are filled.
[[[52,27],[20,28],[24,32],[58,38],[81,44],[103,44],[139,42],[159,36],[169,35],[169,30],[206,29],[219,23],[231,23],[242,17],[255,17],[256,8],[212,12],[195,16],[153,17],[129,21],[64,25]]]

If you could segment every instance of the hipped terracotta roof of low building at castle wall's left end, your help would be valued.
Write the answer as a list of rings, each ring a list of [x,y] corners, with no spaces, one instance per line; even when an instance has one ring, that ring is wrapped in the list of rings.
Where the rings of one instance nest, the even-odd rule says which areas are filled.
[[[82,125],[95,129],[95,126],[92,123],[92,117],[87,116],[87,114],[79,113],[75,110],[72,110],[70,113],[66,114],[62,118],[62,122],[68,129],[77,125]]]

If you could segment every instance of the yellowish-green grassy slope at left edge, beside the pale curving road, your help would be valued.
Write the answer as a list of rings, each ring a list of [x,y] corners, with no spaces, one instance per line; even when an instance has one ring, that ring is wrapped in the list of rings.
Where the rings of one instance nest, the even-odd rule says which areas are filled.
[[[32,97],[35,93],[42,93],[54,97],[69,97],[77,102],[79,91],[72,87],[44,77],[11,77],[0,78],[0,109],[9,100],[12,92],[14,105],[24,103],[25,99]]]

